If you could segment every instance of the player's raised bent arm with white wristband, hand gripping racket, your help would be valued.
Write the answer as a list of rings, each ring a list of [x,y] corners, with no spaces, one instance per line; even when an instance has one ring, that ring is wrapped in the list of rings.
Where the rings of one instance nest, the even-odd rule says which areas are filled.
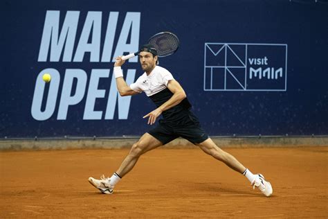
[[[131,87],[127,85],[127,82],[125,82],[123,78],[121,66],[124,63],[125,60],[122,60],[122,58],[118,57],[116,58],[116,62],[114,64],[114,75],[116,78],[116,87],[118,89],[118,92],[120,93],[120,96],[131,96],[139,94],[138,92],[131,89]]]

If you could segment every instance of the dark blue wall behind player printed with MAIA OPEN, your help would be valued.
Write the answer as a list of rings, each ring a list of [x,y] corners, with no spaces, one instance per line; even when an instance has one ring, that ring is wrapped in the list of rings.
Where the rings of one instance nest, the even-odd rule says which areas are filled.
[[[328,134],[327,1],[0,5],[1,138],[143,134],[154,104],[145,94],[117,99],[112,59],[163,30],[181,45],[160,65],[210,135]],[[123,69],[128,81],[142,73],[137,59]],[[53,80],[45,84],[43,73]]]

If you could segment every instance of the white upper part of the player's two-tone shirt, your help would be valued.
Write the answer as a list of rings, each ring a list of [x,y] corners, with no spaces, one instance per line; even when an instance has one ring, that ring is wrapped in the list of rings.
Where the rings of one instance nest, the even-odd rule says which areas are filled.
[[[163,91],[167,87],[169,80],[174,80],[172,73],[163,67],[156,66],[149,73],[149,76],[147,76],[147,73],[143,73],[130,87],[138,93],[145,91],[147,96],[152,96],[159,91]]]

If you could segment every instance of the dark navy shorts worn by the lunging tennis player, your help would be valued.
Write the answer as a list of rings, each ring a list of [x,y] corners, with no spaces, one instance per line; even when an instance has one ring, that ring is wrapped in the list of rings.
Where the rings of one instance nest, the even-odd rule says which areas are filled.
[[[149,130],[152,137],[161,141],[163,145],[170,141],[183,137],[192,143],[201,143],[208,139],[208,134],[201,128],[197,116],[189,110],[183,111],[179,116],[179,121],[166,121],[160,119],[156,128]]]

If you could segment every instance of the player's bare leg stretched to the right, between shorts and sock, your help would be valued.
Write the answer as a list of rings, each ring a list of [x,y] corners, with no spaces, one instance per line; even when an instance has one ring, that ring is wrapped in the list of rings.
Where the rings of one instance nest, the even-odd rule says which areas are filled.
[[[233,170],[236,170],[238,173],[244,173],[246,170],[246,168],[237,159],[235,159],[233,155],[230,155],[228,152],[225,152],[219,148],[210,138],[201,143],[195,143],[195,145],[199,146],[199,148],[201,148],[203,152],[206,152],[206,154],[224,162],[224,164]]]

